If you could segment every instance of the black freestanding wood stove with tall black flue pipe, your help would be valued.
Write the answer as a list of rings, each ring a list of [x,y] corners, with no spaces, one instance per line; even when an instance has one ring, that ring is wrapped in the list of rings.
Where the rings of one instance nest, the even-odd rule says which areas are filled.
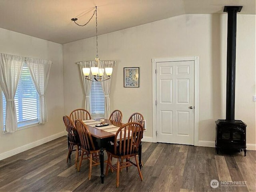
[[[228,12],[227,38],[227,85],[226,85],[226,119],[217,120],[215,148],[217,154],[221,149],[244,150],[246,156],[246,124],[235,120],[235,77],[236,77],[236,14],[242,6],[225,6]]]

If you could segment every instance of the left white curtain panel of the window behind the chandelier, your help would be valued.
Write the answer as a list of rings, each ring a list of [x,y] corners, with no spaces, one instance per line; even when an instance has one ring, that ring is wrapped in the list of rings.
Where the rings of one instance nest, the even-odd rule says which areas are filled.
[[[85,102],[84,102],[84,108],[91,112],[91,100],[90,100],[90,92],[91,92],[91,87],[92,87],[92,81],[87,80],[84,76],[83,73],[83,68],[91,68],[92,65],[94,66],[93,61],[82,61],[78,62],[80,66],[80,72],[81,72],[81,77],[84,85],[84,94],[85,94]],[[92,78],[92,73],[89,74],[88,78]]]

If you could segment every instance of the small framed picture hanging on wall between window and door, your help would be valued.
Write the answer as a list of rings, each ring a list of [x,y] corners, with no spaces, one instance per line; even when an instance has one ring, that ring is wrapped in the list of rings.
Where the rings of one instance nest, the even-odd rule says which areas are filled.
[[[124,87],[139,87],[139,74],[139,67],[124,67]]]

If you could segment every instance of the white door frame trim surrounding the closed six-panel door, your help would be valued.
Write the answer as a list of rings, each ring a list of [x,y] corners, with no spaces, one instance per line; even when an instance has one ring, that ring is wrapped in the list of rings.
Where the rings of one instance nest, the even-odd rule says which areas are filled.
[[[156,63],[174,61],[194,61],[194,146],[198,146],[198,76],[199,57],[152,58],[152,134],[156,143]]]

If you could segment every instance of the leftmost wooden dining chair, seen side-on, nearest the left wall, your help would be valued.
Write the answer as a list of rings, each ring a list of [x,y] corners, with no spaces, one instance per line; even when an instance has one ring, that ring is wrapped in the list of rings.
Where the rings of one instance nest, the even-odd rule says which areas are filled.
[[[67,156],[67,162],[68,159],[70,158],[70,155],[72,153],[74,146],[76,146],[76,162],[75,162],[75,168],[77,168],[77,162],[78,162],[78,154],[79,154],[79,149],[80,149],[80,140],[79,136],[77,134],[76,128],[74,126],[73,121],[69,118],[69,116],[64,115],[63,116],[63,121],[66,126],[66,130],[68,132],[68,143],[69,143],[69,148],[68,148],[68,156]]]

